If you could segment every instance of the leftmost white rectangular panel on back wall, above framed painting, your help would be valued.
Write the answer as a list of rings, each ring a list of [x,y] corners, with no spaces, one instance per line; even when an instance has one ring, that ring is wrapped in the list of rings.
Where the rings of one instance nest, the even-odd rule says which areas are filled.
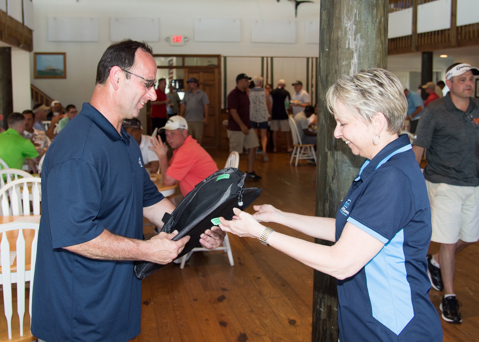
[[[98,42],[98,18],[48,17],[49,42]]]

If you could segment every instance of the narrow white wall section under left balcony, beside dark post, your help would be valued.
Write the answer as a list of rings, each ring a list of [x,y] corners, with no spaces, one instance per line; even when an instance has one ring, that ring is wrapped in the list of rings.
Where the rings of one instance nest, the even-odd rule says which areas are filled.
[[[32,107],[30,94],[30,53],[18,47],[11,48],[11,90],[13,111],[22,113]]]

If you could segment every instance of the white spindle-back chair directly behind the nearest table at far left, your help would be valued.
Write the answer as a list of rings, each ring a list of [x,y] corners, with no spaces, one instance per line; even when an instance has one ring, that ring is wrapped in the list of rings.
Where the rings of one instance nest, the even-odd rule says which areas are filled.
[[[33,215],[40,215],[41,182],[40,178],[24,177],[2,186],[0,188],[0,203],[3,216],[9,216],[10,213],[11,215],[21,215],[21,209],[23,209],[23,215],[31,215],[30,200],[32,201]],[[32,191],[31,196],[29,185]]]

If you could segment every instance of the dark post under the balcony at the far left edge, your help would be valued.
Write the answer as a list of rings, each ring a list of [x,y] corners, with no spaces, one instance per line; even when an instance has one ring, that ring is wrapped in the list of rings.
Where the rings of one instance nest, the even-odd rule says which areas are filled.
[[[7,117],[13,112],[13,94],[11,90],[11,47],[0,47],[0,125],[7,129]]]

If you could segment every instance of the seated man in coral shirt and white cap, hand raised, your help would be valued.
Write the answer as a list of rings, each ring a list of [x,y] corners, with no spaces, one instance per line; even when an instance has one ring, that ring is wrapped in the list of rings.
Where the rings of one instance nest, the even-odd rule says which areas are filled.
[[[212,173],[218,171],[216,162],[208,152],[188,134],[188,124],[179,115],[171,116],[164,127],[166,141],[173,149],[173,157],[168,163],[166,153],[168,146],[157,137],[151,138],[152,147],[160,160],[161,176],[164,185],[173,185],[179,182],[182,196],[174,199],[178,205],[182,197],[194,189],[194,186],[203,181]]]

